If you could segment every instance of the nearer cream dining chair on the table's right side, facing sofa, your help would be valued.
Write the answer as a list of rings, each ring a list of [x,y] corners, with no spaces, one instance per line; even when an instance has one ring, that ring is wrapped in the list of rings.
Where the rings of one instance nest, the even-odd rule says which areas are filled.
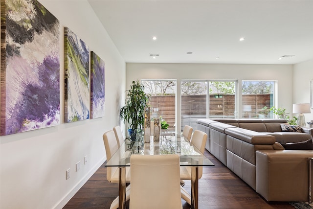
[[[190,143],[195,146],[202,154],[204,153],[205,142],[207,139],[207,134],[203,131],[195,130],[194,134],[190,140]],[[198,179],[202,177],[202,166],[198,168]],[[190,166],[180,166],[180,179],[181,180],[191,180],[191,167]],[[189,205],[191,205],[191,196],[190,194],[180,186],[181,197]]]

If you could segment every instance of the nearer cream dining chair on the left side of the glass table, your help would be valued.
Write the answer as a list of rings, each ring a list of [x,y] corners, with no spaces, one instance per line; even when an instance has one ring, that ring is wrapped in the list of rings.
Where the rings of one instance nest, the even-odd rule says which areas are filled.
[[[107,161],[110,160],[112,155],[119,148],[117,139],[115,138],[114,131],[110,130],[103,134],[103,142],[106,150]],[[119,183],[119,169],[118,167],[107,167],[107,180],[111,183]],[[126,168],[126,182],[130,183],[130,169]],[[129,200],[131,186],[126,187],[126,200]],[[118,196],[113,200],[110,209],[118,209]]]

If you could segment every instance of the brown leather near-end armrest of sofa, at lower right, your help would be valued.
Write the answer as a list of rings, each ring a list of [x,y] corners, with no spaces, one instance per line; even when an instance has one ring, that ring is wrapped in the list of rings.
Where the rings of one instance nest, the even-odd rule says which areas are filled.
[[[313,150],[256,151],[256,192],[267,201],[308,201]]]

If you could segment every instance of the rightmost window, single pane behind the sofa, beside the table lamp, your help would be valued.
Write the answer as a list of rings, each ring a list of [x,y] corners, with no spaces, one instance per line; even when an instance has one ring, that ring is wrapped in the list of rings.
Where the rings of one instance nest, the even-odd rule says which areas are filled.
[[[270,107],[274,104],[274,81],[242,82],[242,117],[272,118]]]

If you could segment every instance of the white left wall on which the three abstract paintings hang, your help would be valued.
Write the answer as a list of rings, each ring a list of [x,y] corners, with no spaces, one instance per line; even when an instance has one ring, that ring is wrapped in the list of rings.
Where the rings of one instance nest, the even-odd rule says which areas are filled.
[[[124,103],[125,62],[87,0],[40,0],[60,21],[61,118],[64,116],[64,26],[105,61],[105,116],[0,137],[0,208],[62,208],[106,160],[102,135]],[[84,157],[88,163],[84,165]],[[75,172],[75,163],[81,169]],[[66,170],[71,177],[66,180]]]

